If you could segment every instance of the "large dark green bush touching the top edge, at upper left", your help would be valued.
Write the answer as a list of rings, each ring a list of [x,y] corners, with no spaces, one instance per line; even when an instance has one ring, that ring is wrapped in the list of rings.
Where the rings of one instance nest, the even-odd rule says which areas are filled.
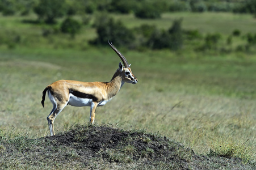
[[[58,0],[40,0],[34,8],[39,19],[43,19],[48,24],[55,23],[55,19],[64,16],[67,10],[65,1]]]

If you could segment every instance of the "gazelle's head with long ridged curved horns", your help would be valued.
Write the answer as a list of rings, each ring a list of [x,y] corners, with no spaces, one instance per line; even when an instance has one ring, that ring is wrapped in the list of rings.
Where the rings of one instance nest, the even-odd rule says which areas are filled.
[[[119,71],[121,73],[121,77],[125,83],[132,83],[136,84],[138,82],[138,79],[136,78],[135,75],[132,74],[132,70],[130,68],[131,64],[128,64],[127,59],[115,48],[115,46],[108,41],[108,44],[110,44],[111,48],[116,52],[116,54],[121,58],[121,61],[123,61],[123,64],[120,62],[119,63]]]

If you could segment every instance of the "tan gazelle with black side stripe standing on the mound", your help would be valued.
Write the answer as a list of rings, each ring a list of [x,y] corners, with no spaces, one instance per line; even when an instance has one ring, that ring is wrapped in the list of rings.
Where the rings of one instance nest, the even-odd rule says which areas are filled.
[[[116,70],[110,82],[78,82],[74,80],[58,80],[47,86],[43,91],[41,104],[44,107],[45,94],[48,92],[49,99],[53,104],[53,108],[47,117],[51,135],[54,135],[53,122],[56,116],[66,107],[72,105],[75,107],[91,107],[90,122],[94,123],[95,111],[98,106],[105,105],[119,92],[123,84],[138,82],[135,75],[132,74],[127,59],[108,41],[108,44],[116,52],[123,61],[119,63],[119,68]]]

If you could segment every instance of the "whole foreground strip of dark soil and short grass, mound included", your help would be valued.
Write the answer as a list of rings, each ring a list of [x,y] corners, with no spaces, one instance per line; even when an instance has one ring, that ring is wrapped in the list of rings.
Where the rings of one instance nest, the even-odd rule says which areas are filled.
[[[2,139],[0,169],[254,169],[240,159],[196,155],[145,130],[76,125],[53,137]]]

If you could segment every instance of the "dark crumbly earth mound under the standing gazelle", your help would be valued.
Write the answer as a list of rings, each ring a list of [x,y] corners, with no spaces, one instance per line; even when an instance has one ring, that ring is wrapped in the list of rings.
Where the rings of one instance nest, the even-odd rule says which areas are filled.
[[[99,158],[109,163],[148,164],[179,162],[179,168],[188,168],[186,158],[194,155],[189,148],[145,130],[125,131],[111,126],[81,126],[60,135],[44,138],[52,146],[72,147],[79,160],[90,164],[88,158]],[[181,152],[183,156],[181,158]],[[86,163],[87,162],[87,163]]]

